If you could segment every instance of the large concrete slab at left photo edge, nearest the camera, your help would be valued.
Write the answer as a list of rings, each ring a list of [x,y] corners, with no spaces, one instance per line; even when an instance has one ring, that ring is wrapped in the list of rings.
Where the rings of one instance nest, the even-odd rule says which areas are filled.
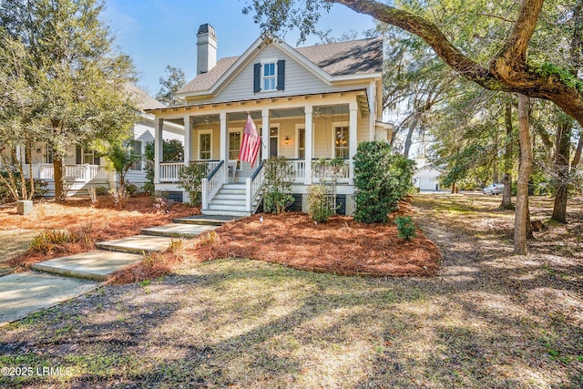
[[[92,291],[98,282],[34,271],[0,277],[0,326]]]

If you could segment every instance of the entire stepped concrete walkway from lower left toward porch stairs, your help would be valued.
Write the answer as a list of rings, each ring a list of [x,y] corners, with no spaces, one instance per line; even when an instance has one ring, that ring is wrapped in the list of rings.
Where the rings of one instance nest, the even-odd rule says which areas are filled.
[[[148,252],[165,250],[173,240],[195,238],[230,220],[202,215],[181,218],[144,229],[140,235],[96,243],[101,250],[39,262],[31,266],[34,271],[0,277],[0,327],[90,292],[109,274],[142,261]]]

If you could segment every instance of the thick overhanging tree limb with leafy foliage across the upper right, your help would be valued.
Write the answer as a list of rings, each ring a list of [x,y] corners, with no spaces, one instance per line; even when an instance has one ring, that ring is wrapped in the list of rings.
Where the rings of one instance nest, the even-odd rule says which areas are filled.
[[[503,8],[504,14],[488,14],[488,4],[481,1],[472,5],[439,0],[409,3],[405,7],[401,3],[386,5],[374,0],[248,0],[243,12],[254,13],[254,20],[264,30],[278,34],[297,27],[301,38],[305,38],[316,31],[315,24],[322,10],[329,10],[332,4],[346,5],[355,12],[419,36],[447,66],[481,87],[551,100],[583,125],[583,82],[576,71],[581,65],[583,2],[578,0],[569,5],[557,0],[545,5],[545,0],[524,0],[518,6],[510,2]],[[464,19],[462,3],[465,8],[476,8],[478,13],[473,13],[476,17],[506,26],[507,33],[476,34],[465,40],[466,46],[455,45],[459,31],[446,29],[445,22],[453,17]],[[561,24],[560,41],[557,41],[557,27],[537,29],[539,21],[549,26]],[[572,33],[568,53],[554,50],[556,45],[534,45],[534,42],[548,42],[550,38],[555,44],[562,43],[569,39],[566,31]],[[571,57],[569,67],[564,60],[567,56]]]

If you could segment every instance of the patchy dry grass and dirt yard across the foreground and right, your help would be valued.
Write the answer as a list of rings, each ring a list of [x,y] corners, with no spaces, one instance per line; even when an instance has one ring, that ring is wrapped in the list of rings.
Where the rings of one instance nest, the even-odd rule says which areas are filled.
[[[415,197],[414,220],[443,253],[435,277],[225,259],[105,286],[2,328],[0,366],[21,374],[0,386],[580,388],[583,200],[527,256],[512,255],[499,201]],[[531,204],[547,220],[552,203]]]

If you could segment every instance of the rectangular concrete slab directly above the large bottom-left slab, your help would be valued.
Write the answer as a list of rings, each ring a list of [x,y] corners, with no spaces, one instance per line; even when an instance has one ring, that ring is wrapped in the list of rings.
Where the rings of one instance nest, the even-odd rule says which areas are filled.
[[[142,255],[127,252],[88,251],[35,263],[31,268],[36,271],[46,271],[67,277],[105,281],[107,280],[107,274],[138,263],[142,258]]]

